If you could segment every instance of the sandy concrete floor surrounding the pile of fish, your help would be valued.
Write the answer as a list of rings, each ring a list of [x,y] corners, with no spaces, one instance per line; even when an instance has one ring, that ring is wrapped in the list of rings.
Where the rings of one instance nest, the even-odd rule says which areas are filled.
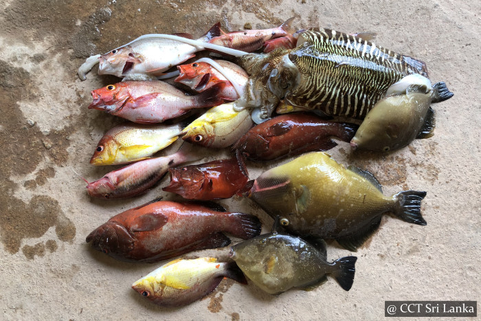
[[[384,300],[480,300],[480,14],[479,1],[71,1],[3,0],[0,13],[0,319],[2,320],[371,320]],[[135,3],[135,4],[133,4]],[[253,284],[224,280],[208,298],[161,309],[131,283],[158,264],[126,264],[91,250],[85,236],[111,216],[159,195],[100,201],[84,182],[113,167],[89,158],[104,131],[121,122],[87,110],[89,92],[116,82],[76,69],[90,54],[153,32],[200,36],[221,21],[238,30],[273,27],[291,16],[298,27],[375,32],[375,43],[427,63],[434,82],[454,98],[435,104],[436,135],[387,155],[331,151],[343,164],[367,168],[385,194],[426,190],[427,226],[386,215],[355,255],[353,288],[330,279],[317,289],[278,297]],[[171,150],[172,151],[172,150]],[[204,161],[225,152],[212,152]],[[269,166],[275,166],[275,163]],[[251,179],[262,166],[249,164]],[[170,197],[168,197],[170,198]],[[247,200],[231,210],[271,219]],[[332,242],[328,258],[350,253]],[[224,256],[227,249],[191,254]]]

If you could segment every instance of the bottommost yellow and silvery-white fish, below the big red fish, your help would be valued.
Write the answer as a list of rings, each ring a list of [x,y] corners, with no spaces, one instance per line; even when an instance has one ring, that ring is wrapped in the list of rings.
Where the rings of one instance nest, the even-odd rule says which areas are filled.
[[[223,278],[247,284],[236,263],[217,262],[217,258],[177,258],[137,280],[132,289],[161,307],[181,307],[210,294]]]

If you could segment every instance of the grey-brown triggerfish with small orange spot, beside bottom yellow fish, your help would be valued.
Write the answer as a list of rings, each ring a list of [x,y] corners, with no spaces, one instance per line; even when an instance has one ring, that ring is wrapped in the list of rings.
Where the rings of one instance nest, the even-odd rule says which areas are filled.
[[[311,291],[326,282],[326,274],[349,291],[357,260],[346,256],[328,263],[324,241],[307,242],[280,232],[237,243],[230,256],[254,284],[269,294],[280,294],[292,287]]]

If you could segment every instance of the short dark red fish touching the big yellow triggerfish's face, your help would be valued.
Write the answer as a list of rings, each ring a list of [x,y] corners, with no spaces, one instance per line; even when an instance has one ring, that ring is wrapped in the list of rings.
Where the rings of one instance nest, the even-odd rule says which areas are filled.
[[[222,159],[199,165],[170,168],[170,185],[162,188],[185,199],[228,199],[249,180],[242,159]]]

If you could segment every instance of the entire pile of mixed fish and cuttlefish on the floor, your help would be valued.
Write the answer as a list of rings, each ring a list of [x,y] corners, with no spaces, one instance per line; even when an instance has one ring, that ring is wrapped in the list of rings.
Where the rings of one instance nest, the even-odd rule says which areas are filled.
[[[187,305],[225,277],[247,284],[247,276],[280,294],[314,289],[329,275],[348,291],[357,258],[328,261],[324,240],[356,251],[388,212],[426,225],[426,192],[385,196],[367,170],[346,168],[324,152],[337,146],[332,137],[353,151],[379,152],[430,137],[430,105],[453,93],[444,82],[432,85],[425,63],[374,45],[372,34],[295,30],[292,23],[229,33],[217,23],[195,40],[147,34],[87,58],[78,70],[85,80],[99,63],[98,74],[122,78],[93,90],[89,109],[129,121],[105,133],[90,161],[127,165],[87,181],[89,195],[135,197],[169,173],[163,190],[189,200],[155,199],[126,210],[93,230],[87,243],[118,260],[155,263],[226,247],[225,233],[245,240],[231,247],[230,261],[177,258],[133,283],[157,305]],[[204,58],[193,60],[196,54]],[[203,114],[193,119],[197,110]],[[177,153],[153,157],[178,137],[185,142]],[[202,158],[201,146],[230,148],[232,157],[183,165]],[[249,180],[246,162],[293,156]],[[234,195],[258,203],[274,220],[272,232],[259,235],[257,217],[213,202]]]

